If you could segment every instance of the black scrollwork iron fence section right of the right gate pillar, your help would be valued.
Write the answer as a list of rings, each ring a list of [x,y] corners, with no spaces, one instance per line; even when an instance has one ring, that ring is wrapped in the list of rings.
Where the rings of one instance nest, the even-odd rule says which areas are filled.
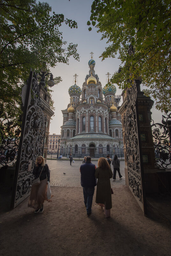
[[[151,122],[156,162],[162,168],[171,169],[171,113],[162,115],[162,124]]]

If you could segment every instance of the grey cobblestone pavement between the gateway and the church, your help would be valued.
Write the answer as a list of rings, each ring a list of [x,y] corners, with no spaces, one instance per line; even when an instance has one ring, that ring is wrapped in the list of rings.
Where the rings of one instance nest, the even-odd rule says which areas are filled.
[[[97,161],[92,161],[97,167]],[[50,185],[51,186],[63,186],[63,187],[81,187],[80,185],[80,165],[81,161],[75,161],[70,166],[69,160],[47,160],[47,164],[50,171]],[[120,162],[120,172],[122,180],[119,179],[118,173],[116,172],[116,181],[113,178],[110,179],[111,187],[116,187],[125,184],[125,162]],[[113,166],[112,166],[113,171]],[[65,174],[64,174],[65,173]]]

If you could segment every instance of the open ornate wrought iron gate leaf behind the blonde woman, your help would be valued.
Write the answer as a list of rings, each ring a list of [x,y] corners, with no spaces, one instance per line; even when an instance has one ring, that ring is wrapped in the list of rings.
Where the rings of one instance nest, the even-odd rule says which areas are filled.
[[[37,76],[31,70],[27,80],[11,208],[16,207],[30,193],[33,181],[32,168],[37,156],[43,154],[45,130],[46,117],[41,108]]]

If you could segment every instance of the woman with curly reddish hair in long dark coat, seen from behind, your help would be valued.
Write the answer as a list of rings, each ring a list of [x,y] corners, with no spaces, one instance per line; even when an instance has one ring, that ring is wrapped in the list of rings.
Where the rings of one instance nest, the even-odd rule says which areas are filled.
[[[110,217],[110,209],[112,208],[112,195],[110,178],[113,173],[109,166],[108,161],[104,157],[100,157],[98,160],[98,167],[95,171],[95,177],[97,180],[96,190],[96,203],[104,209],[104,215],[106,218]]]

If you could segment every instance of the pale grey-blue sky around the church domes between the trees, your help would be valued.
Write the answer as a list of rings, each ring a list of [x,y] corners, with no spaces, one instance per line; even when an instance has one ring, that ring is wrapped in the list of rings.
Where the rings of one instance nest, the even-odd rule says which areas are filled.
[[[105,47],[107,47],[107,44],[105,40],[100,40],[101,34],[97,33],[95,27],[92,28],[92,31],[88,31],[87,21],[91,15],[91,5],[93,0],[41,0],[40,2],[47,2],[52,7],[52,11],[55,11],[55,13],[58,14],[63,13],[65,18],[75,20],[78,24],[77,29],[71,29],[69,26],[63,24],[59,27],[59,30],[63,33],[63,41],[78,44],[77,49],[80,61],[78,62],[71,57],[69,65],[59,63],[55,68],[50,69],[50,72],[53,73],[54,77],[61,76],[63,79],[62,82],[52,87],[54,90],[52,99],[54,100],[55,116],[52,117],[49,128],[50,134],[60,134],[60,127],[63,124],[61,110],[66,109],[70,102],[68,89],[74,85],[74,74],[78,75],[76,84],[82,89],[85,77],[89,72],[88,61],[91,59],[90,52],[94,53],[93,59],[96,62],[94,70],[99,76],[102,87],[107,83],[106,74],[109,72],[112,76],[113,73],[119,69],[121,62],[117,58],[107,58],[104,61],[101,61],[101,58],[99,58],[101,53],[105,50]],[[117,85],[115,86],[116,95],[120,95],[122,89],[119,89]],[[141,85],[141,90],[142,89],[143,86]],[[155,106],[152,107],[151,111],[154,122],[161,123],[161,116],[164,113],[155,109]]]

